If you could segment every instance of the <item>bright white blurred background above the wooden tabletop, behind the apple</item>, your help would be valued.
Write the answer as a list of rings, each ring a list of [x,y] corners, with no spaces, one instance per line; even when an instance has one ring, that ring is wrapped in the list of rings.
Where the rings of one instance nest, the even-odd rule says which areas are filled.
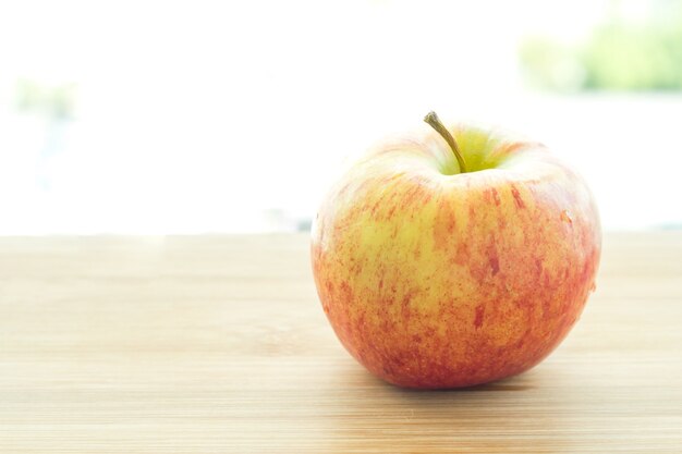
[[[682,1],[21,1],[0,234],[306,230],[431,109],[545,142],[607,230],[682,228]]]

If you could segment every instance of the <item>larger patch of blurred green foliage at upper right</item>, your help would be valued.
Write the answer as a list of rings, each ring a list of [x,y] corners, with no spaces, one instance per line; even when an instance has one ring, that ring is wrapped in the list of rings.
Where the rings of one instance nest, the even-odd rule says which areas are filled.
[[[522,42],[519,57],[527,82],[558,90],[682,89],[682,14],[666,23],[613,20],[583,44],[549,38]]]

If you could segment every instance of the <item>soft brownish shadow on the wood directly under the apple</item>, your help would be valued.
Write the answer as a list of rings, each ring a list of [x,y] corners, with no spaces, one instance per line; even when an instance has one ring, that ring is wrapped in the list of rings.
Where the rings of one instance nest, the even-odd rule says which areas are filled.
[[[571,428],[580,414],[567,405],[567,381],[559,384],[560,371],[551,367],[473,388],[421,391],[345,366],[329,383],[340,402],[318,406],[319,434],[330,452],[575,450]]]

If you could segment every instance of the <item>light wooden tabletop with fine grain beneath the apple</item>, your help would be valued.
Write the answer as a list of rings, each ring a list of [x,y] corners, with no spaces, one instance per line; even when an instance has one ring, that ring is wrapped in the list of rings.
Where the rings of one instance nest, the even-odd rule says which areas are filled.
[[[0,453],[682,452],[682,232],[608,234],[533,370],[387,385],[336,340],[307,236],[0,238]]]

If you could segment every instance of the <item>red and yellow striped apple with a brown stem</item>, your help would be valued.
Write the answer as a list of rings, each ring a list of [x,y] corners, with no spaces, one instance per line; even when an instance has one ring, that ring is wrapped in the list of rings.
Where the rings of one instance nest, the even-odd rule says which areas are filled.
[[[541,144],[425,121],[369,149],[322,200],[319,299],[351,355],[390,383],[514,376],[559,345],[595,289],[594,198]]]

